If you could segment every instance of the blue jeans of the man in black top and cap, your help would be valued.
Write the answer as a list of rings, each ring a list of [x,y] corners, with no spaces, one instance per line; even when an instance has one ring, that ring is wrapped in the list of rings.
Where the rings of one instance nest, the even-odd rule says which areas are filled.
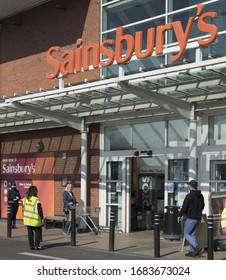
[[[195,248],[198,246],[196,232],[199,224],[200,220],[194,219],[186,219],[184,223],[184,237],[190,244],[190,252],[194,252]]]

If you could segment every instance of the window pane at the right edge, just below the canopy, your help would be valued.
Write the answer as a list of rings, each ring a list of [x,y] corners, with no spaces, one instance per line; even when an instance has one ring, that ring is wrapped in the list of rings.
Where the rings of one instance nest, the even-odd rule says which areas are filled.
[[[226,115],[210,117],[209,122],[209,144],[226,144]]]

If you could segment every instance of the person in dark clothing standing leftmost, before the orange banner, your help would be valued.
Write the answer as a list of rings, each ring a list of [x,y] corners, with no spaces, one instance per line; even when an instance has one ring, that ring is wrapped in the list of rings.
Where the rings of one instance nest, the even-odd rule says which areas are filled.
[[[16,215],[19,208],[20,192],[16,188],[16,183],[11,185],[7,193],[8,205],[11,206],[12,228],[16,228]]]

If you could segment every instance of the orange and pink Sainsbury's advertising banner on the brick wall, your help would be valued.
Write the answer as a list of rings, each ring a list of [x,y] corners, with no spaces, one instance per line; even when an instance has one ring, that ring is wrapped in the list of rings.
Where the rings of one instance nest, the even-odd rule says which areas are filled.
[[[1,160],[1,217],[7,217],[7,193],[16,183],[21,198],[27,189],[38,188],[44,216],[54,215],[54,155],[20,154],[5,156]],[[22,201],[19,201],[18,219],[22,219]]]

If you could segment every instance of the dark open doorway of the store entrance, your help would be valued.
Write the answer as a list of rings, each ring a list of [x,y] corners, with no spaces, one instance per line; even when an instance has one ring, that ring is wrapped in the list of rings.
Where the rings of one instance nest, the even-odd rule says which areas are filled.
[[[164,173],[161,168],[137,169],[131,192],[131,231],[154,228],[154,215],[164,213]],[[143,172],[141,172],[143,171]],[[150,171],[158,171],[150,172]]]

